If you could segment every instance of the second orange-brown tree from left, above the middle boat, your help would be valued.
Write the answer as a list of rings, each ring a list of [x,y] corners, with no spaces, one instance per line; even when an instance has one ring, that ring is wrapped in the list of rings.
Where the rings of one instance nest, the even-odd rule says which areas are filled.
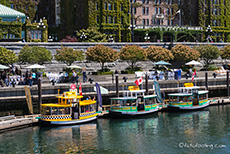
[[[121,48],[120,59],[127,61],[131,68],[134,68],[136,62],[147,60],[147,52],[137,45],[126,45]]]

